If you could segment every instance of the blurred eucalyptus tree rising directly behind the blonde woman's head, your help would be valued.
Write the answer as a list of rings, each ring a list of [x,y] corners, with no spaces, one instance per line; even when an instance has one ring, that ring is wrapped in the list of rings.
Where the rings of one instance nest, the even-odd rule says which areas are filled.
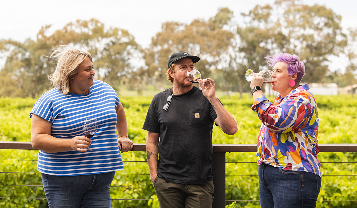
[[[94,61],[97,78],[119,90],[120,83],[139,70],[140,46],[127,30],[110,27],[91,19],[70,22],[48,37],[54,45],[69,45],[88,51]]]

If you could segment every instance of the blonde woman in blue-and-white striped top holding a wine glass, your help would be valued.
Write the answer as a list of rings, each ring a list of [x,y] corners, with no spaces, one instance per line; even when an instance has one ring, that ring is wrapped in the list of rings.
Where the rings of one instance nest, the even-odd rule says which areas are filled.
[[[57,58],[49,76],[54,88],[30,112],[31,144],[39,149],[37,170],[49,207],[110,207],[109,184],[124,169],[120,150],[133,147],[124,108],[113,88],[93,79],[88,52],[59,49],[50,57]],[[91,139],[83,132],[88,117],[98,121]]]

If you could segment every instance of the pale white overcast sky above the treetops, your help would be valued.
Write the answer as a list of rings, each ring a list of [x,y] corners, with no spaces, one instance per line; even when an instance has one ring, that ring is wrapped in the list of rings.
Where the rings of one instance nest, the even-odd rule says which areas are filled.
[[[35,40],[41,26],[52,25],[50,31],[53,32],[71,21],[95,18],[107,28],[118,27],[129,31],[138,44],[147,47],[151,38],[161,30],[163,22],[189,24],[197,18],[208,20],[220,7],[232,10],[235,21],[239,22],[241,12],[247,13],[257,4],[274,2],[275,0],[6,0],[1,2],[0,39],[21,42],[26,38]],[[342,16],[341,25],[344,30],[357,27],[357,0],[303,0],[302,3],[326,5]],[[345,62],[343,58],[333,58],[330,68],[336,70]]]

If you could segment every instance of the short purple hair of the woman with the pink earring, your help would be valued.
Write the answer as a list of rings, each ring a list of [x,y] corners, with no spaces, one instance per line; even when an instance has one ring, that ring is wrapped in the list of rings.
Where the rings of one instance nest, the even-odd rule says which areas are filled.
[[[284,53],[279,55],[271,55],[265,57],[265,59],[267,60],[267,65],[271,67],[274,67],[277,62],[285,62],[288,75],[297,73],[295,86],[300,85],[302,77],[305,75],[305,65],[302,61],[300,61],[300,58],[297,55]]]

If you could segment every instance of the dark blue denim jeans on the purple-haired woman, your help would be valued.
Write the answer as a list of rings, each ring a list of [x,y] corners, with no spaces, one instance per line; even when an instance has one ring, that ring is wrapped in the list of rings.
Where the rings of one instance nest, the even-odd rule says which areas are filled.
[[[260,165],[259,198],[261,208],[316,207],[321,177],[305,171],[286,171]]]

